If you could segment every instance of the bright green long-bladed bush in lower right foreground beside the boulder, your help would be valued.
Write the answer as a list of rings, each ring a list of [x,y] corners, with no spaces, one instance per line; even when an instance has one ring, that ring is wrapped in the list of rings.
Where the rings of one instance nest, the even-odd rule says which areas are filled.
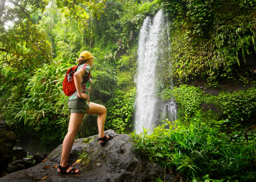
[[[228,120],[206,120],[199,111],[189,121],[166,121],[150,134],[146,129],[131,133],[133,149],[166,167],[177,178],[256,180],[256,138],[248,144],[233,143],[225,133]]]

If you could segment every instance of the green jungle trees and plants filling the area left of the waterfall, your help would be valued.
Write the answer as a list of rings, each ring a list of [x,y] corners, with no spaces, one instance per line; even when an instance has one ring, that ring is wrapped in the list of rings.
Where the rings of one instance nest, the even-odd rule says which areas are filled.
[[[133,104],[137,50],[130,37],[133,27],[122,35],[119,32],[130,21],[122,19],[126,13],[134,11],[129,15],[131,18],[140,11],[147,13],[145,9],[138,10],[139,4],[131,2],[73,4],[57,0],[47,4],[46,1],[20,4],[6,1],[1,17],[1,118],[12,125],[15,133],[35,135],[43,144],[61,140],[67,132],[68,97],[63,94],[61,83],[66,70],[76,64],[79,52],[84,49],[97,55],[92,67],[91,101],[112,108],[117,104],[115,99],[111,100],[113,96],[121,98],[132,89],[131,97],[124,101],[131,99],[129,104]],[[81,9],[85,11],[77,11]],[[12,25],[6,27],[6,22],[11,20]],[[139,23],[132,25],[135,24],[139,26]],[[133,105],[128,108],[129,115],[124,115],[116,125],[109,124],[109,128],[117,129],[117,124],[132,126]],[[92,118],[95,116],[86,119],[91,122]],[[59,130],[54,134],[51,128]],[[124,132],[124,128],[118,131]],[[81,130],[79,137],[95,134],[97,123],[92,122],[92,127],[83,125]]]

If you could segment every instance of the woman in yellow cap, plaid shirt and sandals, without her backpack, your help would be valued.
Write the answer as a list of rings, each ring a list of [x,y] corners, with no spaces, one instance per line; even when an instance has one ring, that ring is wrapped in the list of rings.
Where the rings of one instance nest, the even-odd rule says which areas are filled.
[[[68,99],[68,108],[71,111],[68,133],[63,140],[62,153],[60,165],[58,167],[58,174],[78,174],[79,169],[71,168],[68,164],[68,158],[73,146],[78,129],[83,121],[85,114],[98,114],[98,130],[99,130],[99,143],[105,144],[108,140],[111,140],[113,136],[106,136],[104,134],[104,125],[106,118],[106,108],[100,104],[90,102],[90,91],[92,88],[92,78],[86,82],[86,76],[89,74],[92,63],[92,54],[88,51],[83,51],[79,55],[78,66],[75,74],[74,81],[76,85],[76,92]],[[82,84],[81,84],[82,83]]]

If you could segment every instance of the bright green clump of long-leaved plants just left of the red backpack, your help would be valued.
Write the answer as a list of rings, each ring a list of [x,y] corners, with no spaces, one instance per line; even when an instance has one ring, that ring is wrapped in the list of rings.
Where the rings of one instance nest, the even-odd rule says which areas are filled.
[[[34,76],[29,79],[26,87],[28,97],[22,98],[23,108],[16,117],[20,120],[24,119],[24,124],[28,120],[37,122],[38,119],[35,117],[38,114],[35,110],[43,112],[47,103],[56,103],[59,108],[65,109],[61,112],[67,114],[65,103],[67,103],[68,97],[65,98],[65,94],[62,91],[62,80],[64,79],[65,71],[68,69],[67,67],[64,64],[61,66],[44,64],[42,68],[37,69]],[[63,102],[63,100],[66,100],[66,102]],[[58,113],[58,111],[60,109],[56,108],[55,112]]]

